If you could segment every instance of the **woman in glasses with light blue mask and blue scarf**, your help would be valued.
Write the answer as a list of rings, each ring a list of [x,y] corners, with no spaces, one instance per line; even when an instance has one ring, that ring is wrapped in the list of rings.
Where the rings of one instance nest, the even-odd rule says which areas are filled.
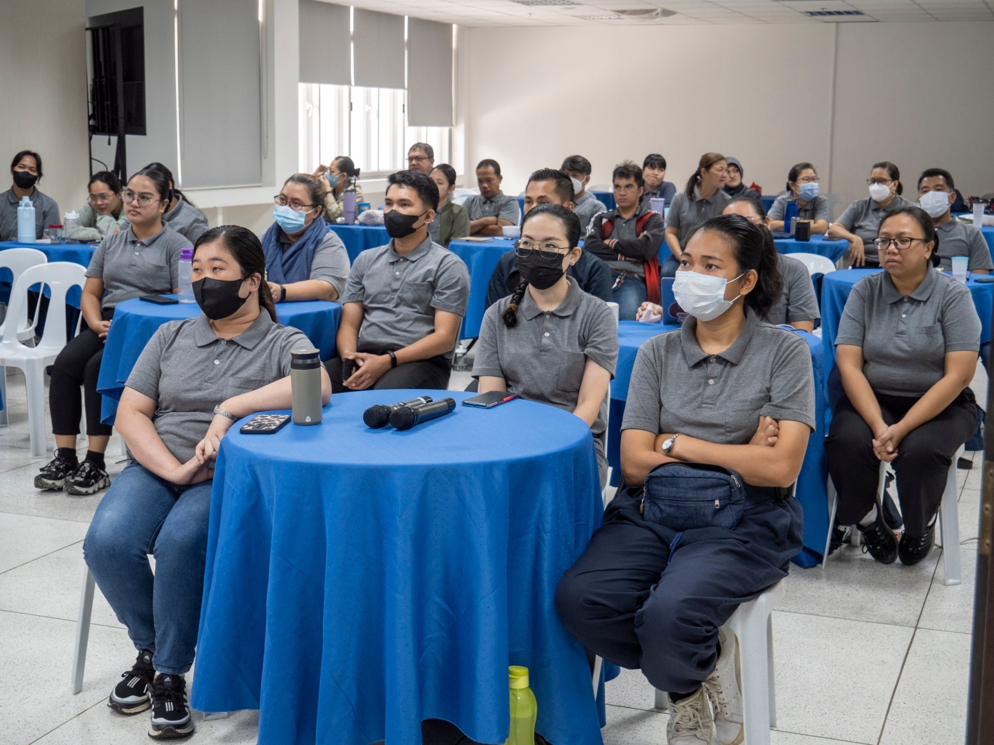
[[[262,235],[265,274],[277,303],[336,300],[349,278],[345,243],[321,218],[323,187],[295,173],[273,197],[275,219]]]

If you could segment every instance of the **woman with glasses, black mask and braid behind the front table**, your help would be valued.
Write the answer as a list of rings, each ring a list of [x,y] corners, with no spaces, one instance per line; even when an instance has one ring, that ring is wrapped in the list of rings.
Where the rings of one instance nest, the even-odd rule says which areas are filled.
[[[515,244],[521,283],[487,308],[473,376],[480,392],[507,390],[572,411],[590,427],[607,483],[607,386],[618,357],[614,316],[587,295],[567,267],[580,259],[580,218],[561,205],[533,208]]]

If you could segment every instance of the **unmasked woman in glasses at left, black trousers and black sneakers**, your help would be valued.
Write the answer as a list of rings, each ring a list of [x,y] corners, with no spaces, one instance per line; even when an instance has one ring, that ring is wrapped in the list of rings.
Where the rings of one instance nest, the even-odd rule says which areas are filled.
[[[86,269],[80,310],[83,328],[63,348],[52,366],[49,408],[56,436],[55,458],[35,477],[41,490],[94,494],[110,485],[103,461],[111,428],[100,422],[100,394],[96,378],[103,359],[103,343],[118,303],[142,295],[177,292],[180,250],[190,241],[167,226],[162,216],[172,190],[159,171],[143,169],[132,176],[123,192],[126,229],[112,232],[97,246]],[[79,462],[83,399],[86,402],[86,458]]]

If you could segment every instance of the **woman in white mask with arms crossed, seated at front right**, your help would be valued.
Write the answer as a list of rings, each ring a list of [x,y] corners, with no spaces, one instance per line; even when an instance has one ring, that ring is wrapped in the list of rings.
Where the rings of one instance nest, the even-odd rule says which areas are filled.
[[[621,425],[628,487],[556,594],[587,649],[670,692],[671,743],[741,742],[736,639],[719,629],[801,549],[801,508],[786,490],[815,428],[814,375],[803,339],[759,321],[780,290],[773,250],[738,215],[688,241],[674,288],[692,318],[638,351]],[[643,482],[668,463],[737,472],[738,524],[678,532],[643,519]]]

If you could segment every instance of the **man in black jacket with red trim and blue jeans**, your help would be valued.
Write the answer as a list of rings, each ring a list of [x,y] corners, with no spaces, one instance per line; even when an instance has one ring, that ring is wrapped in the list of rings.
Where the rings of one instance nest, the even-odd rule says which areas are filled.
[[[611,181],[617,207],[593,218],[583,249],[607,262],[618,318],[634,321],[642,303],[659,302],[659,246],[666,223],[642,205],[641,168],[625,161],[614,168]]]

